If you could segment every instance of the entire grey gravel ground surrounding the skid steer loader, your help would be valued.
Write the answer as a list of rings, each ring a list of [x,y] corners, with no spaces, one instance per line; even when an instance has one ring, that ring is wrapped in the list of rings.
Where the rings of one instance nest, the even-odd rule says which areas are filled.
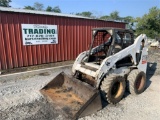
[[[145,92],[137,96],[126,93],[118,104],[105,105],[97,113],[79,120],[160,120],[160,49],[150,49],[148,61]],[[53,109],[39,90],[61,71],[70,74],[70,70],[67,67],[42,74],[0,77],[0,120],[53,120]]]

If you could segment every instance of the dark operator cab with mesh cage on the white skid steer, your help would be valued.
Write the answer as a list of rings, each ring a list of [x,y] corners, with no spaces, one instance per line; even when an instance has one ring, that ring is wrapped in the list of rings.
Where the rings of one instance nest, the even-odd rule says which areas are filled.
[[[87,62],[97,65],[108,56],[116,54],[134,43],[134,34],[131,30],[121,28],[94,28],[92,43]]]

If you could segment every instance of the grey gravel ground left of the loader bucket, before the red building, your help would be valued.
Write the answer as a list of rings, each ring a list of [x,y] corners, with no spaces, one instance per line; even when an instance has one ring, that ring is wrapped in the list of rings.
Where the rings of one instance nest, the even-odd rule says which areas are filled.
[[[53,109],[39,92],[56,75],[71,67],[48,70],[36,75],[0,78],[0,120],[52,120]],[[16,78],[16,79],[15,79]],[[61,116],[59,116],[62,119]]]

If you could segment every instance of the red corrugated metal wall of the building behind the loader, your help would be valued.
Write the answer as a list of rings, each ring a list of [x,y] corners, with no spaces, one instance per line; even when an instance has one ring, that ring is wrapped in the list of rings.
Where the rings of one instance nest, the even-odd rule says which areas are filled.
[[[23,46],[21,24],[58,25],[58,44]],[[95,27],[125,28],[125,23],[0,11],[1,69],[74,60],[91,43]]]

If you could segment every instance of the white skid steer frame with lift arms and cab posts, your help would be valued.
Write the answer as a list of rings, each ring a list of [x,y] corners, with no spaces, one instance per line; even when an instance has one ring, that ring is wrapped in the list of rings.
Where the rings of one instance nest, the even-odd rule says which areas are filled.
[[[97,65],[94,64],[93,62],[90,62],[89,59],[93,53],[95,54],[96,52],[99,52],[97,51],[97,48],[101,47],[101,45],[93,47],[95,36],[99,31],[106,31],[110,33],[112,37],[112,42],[109,46],[110,48],[108,50],[106,57],[102,60],[102,63],[100,65]],[[115,48],[116,33],[130,33],[132,43],[127,47],[123,48],[118,53],[113,54],[112,50]],[[73,75],[76,75],[78,73],[90,76],[91,78],[95,79],[95,84],[92,86],[99,88],[101,81],[109,73],[125,76],[132,69],[135,68],[144,71],[146,73],[146,67],[147,67],[146,59],[148,55],[147,37],[145,34],[141,34],[134,40],[133,36],[134,36],[133,32],[131,30],[126,30],[126,29],[117,29],[117,28],[93,29],[93,38],[90,50],[81,53],[77,57],[72,67]],[[142,42],[144,42],[143,46]],[[122,43],[124,43],[124,41],[122,41]],[[116,65],[117,62],[123,60],[123,58],[125,57],[129,57],[132,63],[125,64],[124,66],[117,68]]]

